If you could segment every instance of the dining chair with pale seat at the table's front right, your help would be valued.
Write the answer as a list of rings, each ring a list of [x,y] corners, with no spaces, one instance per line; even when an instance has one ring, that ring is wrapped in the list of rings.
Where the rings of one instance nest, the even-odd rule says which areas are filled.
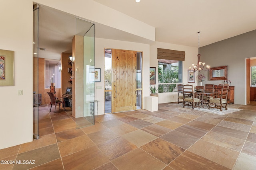
[[[213,99],[210,99],[209,103],[214,104],[214,106],[210,106],[211,108],[217,108],[222,111],[222,108],[225,108],[226,110],[228,109],[228,103],[227,103],[227,98],[228,98],[228,84],[219,84],[221,87],[220,94],[214,94]],[[225,104],[225,106],[222,106]]]

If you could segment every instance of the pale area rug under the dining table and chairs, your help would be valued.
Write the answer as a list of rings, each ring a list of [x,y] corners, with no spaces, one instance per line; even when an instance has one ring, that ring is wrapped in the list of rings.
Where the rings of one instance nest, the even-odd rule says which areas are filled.
[[[183,104],[171,104],[174,106],[179,106],[179,107],[183,107]],[[185,106],[185,108],[192,108],[191,106]],[[215,109],[215,108],[202,108],[200,107],[200,109],[198,107],[194,107],[194,110],[198,110],[198,111],[204,111],[204,112],[208,112],[208,113],[214,113],[214,114],[218,114],[218,115],[226,115],[226,114],[230,114],[233,113],[235,111],[240,111],[242,109],[235,109],[235,108],[229,108],[227,110],[225,110],[225,108],[222,108],[222,111],[220,111],[220,109]]]

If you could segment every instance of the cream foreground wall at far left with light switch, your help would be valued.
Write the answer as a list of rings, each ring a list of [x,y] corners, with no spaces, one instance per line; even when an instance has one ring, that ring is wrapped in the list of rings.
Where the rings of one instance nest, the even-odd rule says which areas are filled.
[[[0,86],[0,149],[32,141],[32,1],[1,1],[0,48],[14,51],[14,86]],[[18,90],[23,95],[18,96]]]

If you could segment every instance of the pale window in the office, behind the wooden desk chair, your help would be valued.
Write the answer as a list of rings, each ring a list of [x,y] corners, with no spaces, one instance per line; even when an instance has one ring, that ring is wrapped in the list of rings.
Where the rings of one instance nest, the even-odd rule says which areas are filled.
[[[45,60],[45,88],[50,88],[51,83],[54,83],[55,88],[60,88],[60,61]]]

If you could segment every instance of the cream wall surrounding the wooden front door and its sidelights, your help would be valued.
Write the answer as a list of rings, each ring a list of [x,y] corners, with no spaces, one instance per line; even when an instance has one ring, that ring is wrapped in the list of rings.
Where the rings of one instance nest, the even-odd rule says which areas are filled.
[[[132,51],[143,52],[143,98],[149,96],[149,49],[147,44],[133,43],[127,41],[117,41],[111,39],[95,39],[95,68],[101,68],[101,82],[95,83],[95,100],[99,100],[98,103],[98,115],[104,114],[104,48],[109,49],[125,49]],[[101,89],[97,89],[101,87]]]

